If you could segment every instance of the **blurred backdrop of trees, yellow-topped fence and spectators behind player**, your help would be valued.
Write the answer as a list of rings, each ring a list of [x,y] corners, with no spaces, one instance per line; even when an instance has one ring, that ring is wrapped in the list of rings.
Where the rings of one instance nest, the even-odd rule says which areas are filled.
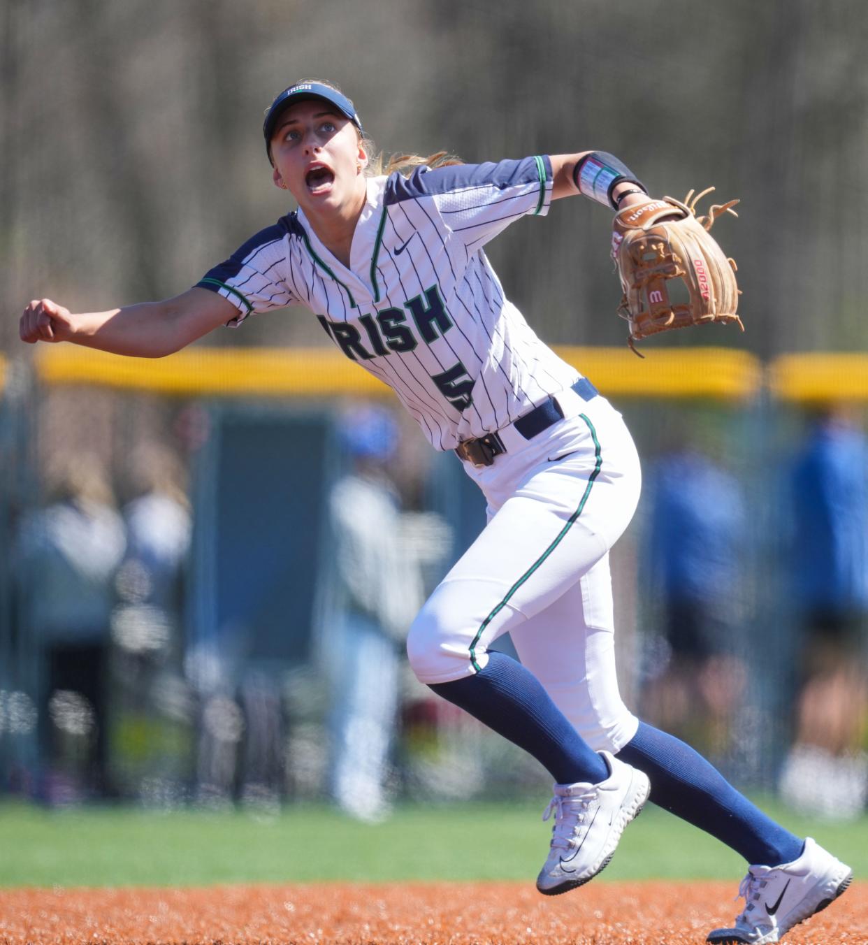
[[[31,298],[175,295],[291,209],[262,117],[314,75],[386,152],[600,148],[654,194],[741,198],[715,234],[745,334],[675,333],[645,361],[602,208],[562,201],[489,255],[643,457],[613,556],[628,704],[742,787],[859,816],[863,4],[5,0],[0,43],[0,792],[328,797],[376,820],[546,781],[407,667],[413,612],[483,502],[315,318],[153,363],[17,338]]]

